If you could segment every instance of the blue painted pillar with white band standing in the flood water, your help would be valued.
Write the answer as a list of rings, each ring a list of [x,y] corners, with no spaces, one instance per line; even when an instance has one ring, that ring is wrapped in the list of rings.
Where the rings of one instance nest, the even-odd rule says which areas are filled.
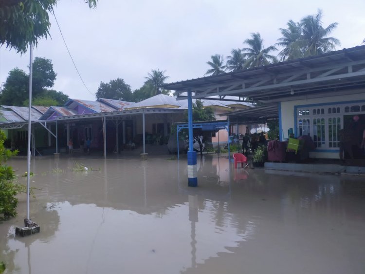
[[[187,152],[187,177],[188,185],[191,187],[198,186],[197,176],[197,153],[193,147],[193,106],[191,100],[191,90],[187,92],[187,117],[189,128],[189,151]]]

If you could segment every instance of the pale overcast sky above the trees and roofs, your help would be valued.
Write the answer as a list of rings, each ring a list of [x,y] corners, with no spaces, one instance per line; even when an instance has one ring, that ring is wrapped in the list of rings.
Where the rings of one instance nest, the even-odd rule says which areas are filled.
[[[323,10],[327,27],[342,48],[365,39],[365,0],[99,0],[96,9],[84,1],[60,0],[55,15],[78,70],[67,53],[53,16],[51,38],[39,40],[34,57],[51,59],[57,73],[54,89],[70,98],[91,99],[100,81],[123,78],[132,90],[141,87],[151,69],[166,70],[167,82],[202,77],[211,55],[230,55],[250,33],[259,32],[265,47],[280,37],[288,20]],[[0,83],[8,72],[28,73],[29,54],[0,48]]]

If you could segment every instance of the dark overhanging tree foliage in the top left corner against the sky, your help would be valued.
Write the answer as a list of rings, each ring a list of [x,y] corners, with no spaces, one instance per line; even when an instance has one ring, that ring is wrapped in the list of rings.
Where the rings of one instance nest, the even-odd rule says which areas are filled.
[[[96,7],[97,0],[84,0]],[[49,13],[57,0],[0,0],[0,45],[25,53],[29,44],[47,38],[51,23]]]

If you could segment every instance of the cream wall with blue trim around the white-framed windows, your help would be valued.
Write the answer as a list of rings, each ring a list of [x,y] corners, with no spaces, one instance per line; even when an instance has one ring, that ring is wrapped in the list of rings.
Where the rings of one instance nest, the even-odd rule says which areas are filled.
[[[300,100],[292,100],[292,101],[282,101],[279,103],[279,119],[280,119],[280,139],[283,140],[288,138],[288,130],[290,128],[293,129],[295,137],[299,137],[300,134],[300,126],[298,124],[298,120],[300,117],[298,116],[298,112],[301,110],[309,111],[307,114],[310,122],[313,121],[313,111],[314,109],[319,109],[324,111],[324,113],[317,115],[319,118],[324,118],[325,122],[325,131],[326,131],[326,143],[323,143],[324,148],[320,148],[317,146],[316,151],[310,153],[310,157],[314,158],[339,158],[339,148],[338,144],[334,145],[335,147],[329,147],[329,134],[328,134],[328,119],[329,117],[339,117],[340,118],[340,127],[344,128],[343,117],[344,115],[356,115],[356,114],[365,114],[365,112],[344,112],[344,108],[346,106],[358,104],[360,107],[365,105],[365,91],[360,91],[362,93],[358,94],[347,94],[347,95],[339,95],[339,96],[329,96],[324,98],[311,98],[311,99],[300,99]],[[339,114],[329,114],[329,107],[340,108]],[[306,118],[307,115],[301,116]],[[310,123],[308,128],[311,130],[310,136],[313,138],[312,132],[313,123]],[[332,145],[331,145],[332,146]]]

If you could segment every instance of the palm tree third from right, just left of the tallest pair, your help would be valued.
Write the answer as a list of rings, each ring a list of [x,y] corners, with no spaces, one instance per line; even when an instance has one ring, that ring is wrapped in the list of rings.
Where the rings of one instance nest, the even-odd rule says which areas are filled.
[[[243,57],[246,58],[244,68],[254,68],[265,66],[271,62],[276,62],[276,57],[269,55],[270,52],[277,50],[274,46],[264,48],[263,39],[259,33],[252,33],[252,39],[246,39],[243,43],[249,45],[248,48],[243,48]]]

